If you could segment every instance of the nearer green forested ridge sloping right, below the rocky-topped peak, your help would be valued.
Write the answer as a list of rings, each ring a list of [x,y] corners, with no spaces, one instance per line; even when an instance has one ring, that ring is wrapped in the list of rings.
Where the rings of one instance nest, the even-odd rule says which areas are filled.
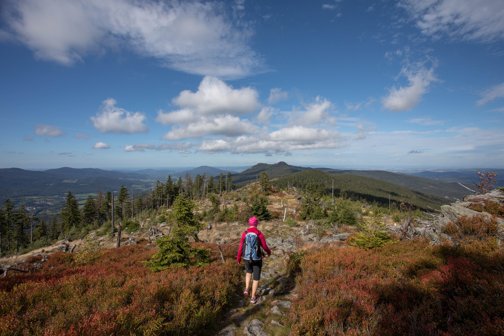
[[[368,202],[376,201],[383,206],[388,206],[389,194],[392,202],[403,199],[421,209],[428,209],[428,207],[439,209],[440,206],[451,203],[448,199],[411,190],[379,179],[350,174],[329,174],[316,169],[290,174],[270,181],[270,183],[273,186],[286,187],[290,185],[296,188],[304,188],[308,183],[314,183],[322,185],[326,193],[331,194],[333,180],[335,196],[339,195],[340,190],[345,190],[350,197],[366,199]]]

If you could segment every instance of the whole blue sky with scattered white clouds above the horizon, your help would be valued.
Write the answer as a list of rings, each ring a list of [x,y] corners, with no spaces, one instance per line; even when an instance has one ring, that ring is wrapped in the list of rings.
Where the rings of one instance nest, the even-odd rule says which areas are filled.
[[[501,0],[7,0],[2,168],[504,168]]]

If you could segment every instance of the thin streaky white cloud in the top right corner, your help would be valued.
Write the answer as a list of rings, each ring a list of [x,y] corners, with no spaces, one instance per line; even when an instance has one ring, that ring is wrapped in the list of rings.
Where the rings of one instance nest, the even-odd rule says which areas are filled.
[[[425,35],[476,42],[504,38],[502,0],[402,0],[403,7]]]

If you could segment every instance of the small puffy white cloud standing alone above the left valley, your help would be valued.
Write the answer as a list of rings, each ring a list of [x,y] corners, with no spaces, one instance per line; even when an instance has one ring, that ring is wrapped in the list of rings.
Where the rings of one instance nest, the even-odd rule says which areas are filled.
[[[129,112],[123,108],[116,107],[115,99],[108,98],[102,102],[100,112],[96,116],[90,117],[93,125],[102,133],[147,133],[149,128],[143,123],[147,119],[145,114],[140,112]]]

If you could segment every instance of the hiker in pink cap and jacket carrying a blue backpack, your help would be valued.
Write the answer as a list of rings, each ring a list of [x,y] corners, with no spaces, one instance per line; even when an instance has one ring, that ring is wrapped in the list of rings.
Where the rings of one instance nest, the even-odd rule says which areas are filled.
[[[248,220],[250,227],[241,235],[240,249],[238,250],[238,263],[240,263],[241,255],[243,254],[243,261],[245,261],[246,274],[245,274],[245,291],[243,295],[248,297],[248,286],[252,274],[254,274],[254,282],[252,284],[252,295],[250,296],[250,303],[256,303],[259,300],[259,295],[256,295],[259,280],[261,280],[261,268],[263,267],[263,248],[271,255],[271,250],[266,245],[266,240],[261,231],[257,229],[258,220],[252,217]],[[245,245],[245,246],[243,246]]]

